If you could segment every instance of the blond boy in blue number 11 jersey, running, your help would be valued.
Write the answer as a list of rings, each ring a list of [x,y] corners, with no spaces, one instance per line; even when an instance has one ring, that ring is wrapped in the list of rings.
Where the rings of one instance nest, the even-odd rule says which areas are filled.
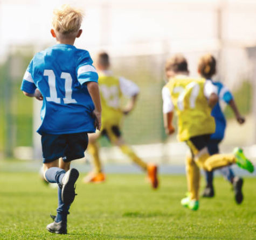
[[[98,74],[85,50],[73,46],[82,30],[82,12],[63,5],[53,12],[51,34],[57,44],[34,55],[23,77],[23,93],[43,101],[41,135],[44,176],[58,183],[57,216],[46,229],[67,233],[67,215],[75,197],[79,172],[70,169],[84,157],[88,132],[101,128]]]

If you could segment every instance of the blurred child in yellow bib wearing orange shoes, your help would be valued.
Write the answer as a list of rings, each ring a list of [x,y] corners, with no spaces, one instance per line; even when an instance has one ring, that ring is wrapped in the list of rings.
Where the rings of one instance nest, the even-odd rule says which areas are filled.
[[[115,77],[109,70],[110,63],[108,54],[99,53],[96,59],[96,69],[99,72],[99,88],[102,105],[101,131],[89,135],[88,151],[93,157],[94,171],[89,173],[84,182],[101,182],[105,180],[105,174],[102,172],[102,166],[99,158],[99,146],[96,140],[105,136],[110,143],[120,147],[120,150],[126,154],[134,163],[139,165],[142,170],[148,173],[148,179],[153,188],[157,188],[157,166],[146,164],[140,159],[133,149],[128,146],[121,136],[120,125],[123,115],[127,115],[133,110],[139,87],[132,81],[124,77]],[[130,98],[125,108],[121,105],[121,97],[126,95]]]

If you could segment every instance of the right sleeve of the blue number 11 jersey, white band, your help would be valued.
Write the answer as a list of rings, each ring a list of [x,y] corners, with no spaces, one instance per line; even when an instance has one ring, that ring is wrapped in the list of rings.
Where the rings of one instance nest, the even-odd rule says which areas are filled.
[[[81,85],[87,82],[98,82],[99,76],[92,63],[89,53],[84,51],[76,67],[77,79]]]

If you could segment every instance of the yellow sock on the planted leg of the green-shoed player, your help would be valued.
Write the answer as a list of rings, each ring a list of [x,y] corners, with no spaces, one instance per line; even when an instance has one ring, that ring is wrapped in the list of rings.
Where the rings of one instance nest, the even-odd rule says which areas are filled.
[[[191,155],[186,156],[186,180],[191,199],[199,199],[200,170]]]

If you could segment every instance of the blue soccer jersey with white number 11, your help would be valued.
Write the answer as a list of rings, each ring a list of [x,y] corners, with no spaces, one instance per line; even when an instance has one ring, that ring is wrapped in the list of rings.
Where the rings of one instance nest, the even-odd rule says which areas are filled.
[[[21,90],[44,97],[39,134],[94,132],[94,104],[87,82],[98,82],[92,59],[85,50],[57,44],[34,55]]]

